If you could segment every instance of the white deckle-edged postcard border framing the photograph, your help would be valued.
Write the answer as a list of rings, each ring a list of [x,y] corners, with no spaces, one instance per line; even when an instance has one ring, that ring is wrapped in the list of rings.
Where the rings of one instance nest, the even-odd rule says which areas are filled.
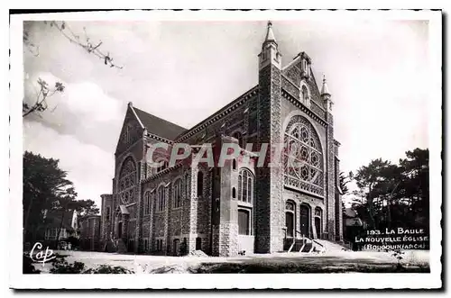
[[[321,20],[323,18],[370,18],[396,20],[428,20],[429,30],[429,65],[431,71],[431,96],[428,110],[429,152],[430,152],[430,274],[260,274],[260,275],[23,275],[23,20],[161,20],[161,21],[195,21],[195,20]],[[343,19],[342,19],[343,20]],[[8,215],[10,217],[8,246],[10,286],[14,288],[45,289],[88,289],[88,288],[123,288],[123,289],[200,289],[200,288],[242,288],[242,289],[332,289],[332,288],[437,288],[442,285],[440,274],[442,264],[440,257],[442,247],[442,229],[440,210],[442,201],[442,161],[441,146],[441,28],[440,12],[431,11],[301,11],[301,12],[104,12],[104,13],[57,13],[57,14],[23,14],[11,16],[11,92],[10,92],[10,197]],[[14,266],[13,266],[14,265]]]

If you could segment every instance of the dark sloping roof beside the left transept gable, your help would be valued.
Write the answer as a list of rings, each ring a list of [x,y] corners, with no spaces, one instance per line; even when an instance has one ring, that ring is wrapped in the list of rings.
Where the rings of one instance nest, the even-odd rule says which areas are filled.
[[[177,124],[168,122],[150,113],[146,113],[143,110],[137,109],[134,106],[133,110],[141,120],[147,131],[160,136],[161,138],[174,140],[180,133],[187,130],[186,128],[183,128]]]

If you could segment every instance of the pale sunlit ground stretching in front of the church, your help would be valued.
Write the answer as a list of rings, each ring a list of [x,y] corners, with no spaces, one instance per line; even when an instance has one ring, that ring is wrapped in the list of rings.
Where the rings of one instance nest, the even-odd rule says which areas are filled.
[[[387,272],[398,260],[389,252],[345,251],[331,249],[323,254],[299,252],[273,253],[240,257],[161,257],[121,255],[90,251],[55,251],[68,256],[69,263],[83,262],[87,267],[123,266],[136,274],[149,273],[268,273],[268,272]],[[408,250],[400,260],[405,268],[428,268],[428,251]],[[41,273],[50,264],[40,266]],[[413,270],[415,271],[415,270]],[[409,271],[411,272],[411,271]],[[423,271],[421,271],[423,272]]]

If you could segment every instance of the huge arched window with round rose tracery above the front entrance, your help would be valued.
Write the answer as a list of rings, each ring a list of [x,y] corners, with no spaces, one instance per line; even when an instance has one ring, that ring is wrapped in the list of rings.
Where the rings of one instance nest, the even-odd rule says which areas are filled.
[[[284,184],[324,195],[323,153],[313,125],[300,115],[290,119],[284,136]]]

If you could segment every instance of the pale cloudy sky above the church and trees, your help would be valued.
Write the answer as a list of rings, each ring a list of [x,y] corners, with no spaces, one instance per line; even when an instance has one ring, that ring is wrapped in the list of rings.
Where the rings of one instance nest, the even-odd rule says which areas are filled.
[[[23,50],[25,100],[36,80],[60,81],[50,108],[23,122],[23,150],[60,159],[79,199],[110,194],[114,153],[128,102],[190,128],[258,84],[267,21],[69,22],[102,41],[109,68],[49,23],[27,23],[39,55]],[[428,148],[428,22],[272,21],[282,66],[300,52],[323,74],[335,102],[335,138],[345,173],[372,159],[397,162]],[[84,29],[85,28],[85,29]]]

